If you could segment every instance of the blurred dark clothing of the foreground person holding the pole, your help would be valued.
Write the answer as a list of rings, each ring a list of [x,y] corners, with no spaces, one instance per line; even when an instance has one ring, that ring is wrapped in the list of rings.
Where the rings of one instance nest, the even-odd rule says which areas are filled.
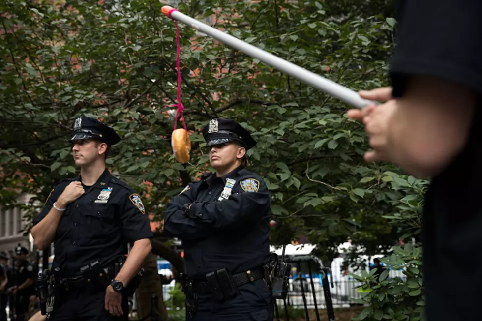
[[[405,0],[400,9],[393,95],[403,96],[414,75],[463,84],[478,95],[465,147],[425,195],[422,233],[427,319],[475,320],[482,301],[482,1]]]

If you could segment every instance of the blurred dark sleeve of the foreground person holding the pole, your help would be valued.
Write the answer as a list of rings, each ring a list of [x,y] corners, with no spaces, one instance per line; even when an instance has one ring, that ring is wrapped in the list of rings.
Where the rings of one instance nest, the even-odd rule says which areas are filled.
[[[400,97],[410,76],[462,83],[482,94],[482,1],[403,0],[390,77]]]

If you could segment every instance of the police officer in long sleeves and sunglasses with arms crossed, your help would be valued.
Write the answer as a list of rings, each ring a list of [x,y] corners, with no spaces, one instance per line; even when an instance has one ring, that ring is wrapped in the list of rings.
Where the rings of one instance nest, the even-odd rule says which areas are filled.
[[[263,280],[270,261],[271,196],[258,175],[243,168],[256,145],[231,119],[203,128],[214,174],[190,183],[167,204],[164,231],[180,237],[187,281],[187,320],[272,320]]]

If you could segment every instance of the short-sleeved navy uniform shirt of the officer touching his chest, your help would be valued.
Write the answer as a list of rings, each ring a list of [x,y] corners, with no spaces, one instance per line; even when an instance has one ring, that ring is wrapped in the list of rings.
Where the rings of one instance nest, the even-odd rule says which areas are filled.
[[[80,181],[80,176],[65,179],[54,188],[42,211],[33,219],[34,225],[49,213],[73,181]],[[77,276],[82,266],[97,260],[110,263],[127,254],[129,242],[152,237],[140,196],[106,168],[97,182],[86,187],[85,193],[63,212],[55,234],[52,266],[59,267],[64,276]]]

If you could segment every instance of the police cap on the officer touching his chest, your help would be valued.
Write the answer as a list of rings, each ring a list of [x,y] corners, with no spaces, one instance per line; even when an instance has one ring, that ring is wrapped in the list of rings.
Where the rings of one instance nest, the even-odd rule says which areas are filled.
[[[79,139],[95,138],[109,146],[121,141],[114,128],[107,126],[99,120],[91,117],[78,117],[73,124],[72,138],[70,141]]]

